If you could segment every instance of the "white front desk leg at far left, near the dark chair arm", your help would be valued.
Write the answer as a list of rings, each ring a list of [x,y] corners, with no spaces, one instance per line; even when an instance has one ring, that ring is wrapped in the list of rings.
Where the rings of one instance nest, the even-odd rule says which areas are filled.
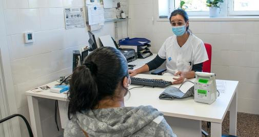
[[[42,125],[41,119],[39,118],[39,109],[38,109],[38,100],[36,97],[27,95],[30,120],[31,120],[31,129],[34,136],[42,137]]]

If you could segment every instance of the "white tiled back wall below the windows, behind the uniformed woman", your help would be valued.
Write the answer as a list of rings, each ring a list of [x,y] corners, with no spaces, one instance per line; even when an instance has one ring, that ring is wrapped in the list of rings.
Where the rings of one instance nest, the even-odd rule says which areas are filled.
[[[169,22],[152,21],[152,1],[129,1],[129,35],[151,40],[157,53],[172,35]],[[156,18],[154,16],[154,18]],[[190,22],[191,31],[212,45],[212,72],[217,79],[240,81],[238,111],[259,114],[259,22]]]

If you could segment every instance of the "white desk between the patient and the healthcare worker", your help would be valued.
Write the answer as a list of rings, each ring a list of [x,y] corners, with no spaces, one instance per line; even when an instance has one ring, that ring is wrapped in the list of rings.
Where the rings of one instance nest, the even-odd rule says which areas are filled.
[[[155,55],[138,59],[130,64],[141,66],[152,60]],[[140,75],[140,77],[143,75]],[[149,79],[158,78],[158,75],[149,75]],[[57,82],[47,84],[54,86]],[[178,136],[202,136],[201,121],[211,122],[211,135],[221,136],[222,122],[227,110],[230,110],[230,134],[236,135],[236,112],[237,112],[237,85],[236,81],[226,81],[226,91],[221,93],[217,100],[211,104],[195,103],[193,97],[181,100],[160,100],[158,96],[163,88],[135,88],[130,90],[130,97],[125,96],[125,106],[151,105],[165,114],[168,124]],[[135,87],[136,85],[131,85]],[[42,127],[39,114],[38,99],[58,100],[59,113],[62,128],[67,121],[67,94],[52,93],[49,90],[43,92],[26,92],[31,120],[31,127],[34,136],[42,136]]]

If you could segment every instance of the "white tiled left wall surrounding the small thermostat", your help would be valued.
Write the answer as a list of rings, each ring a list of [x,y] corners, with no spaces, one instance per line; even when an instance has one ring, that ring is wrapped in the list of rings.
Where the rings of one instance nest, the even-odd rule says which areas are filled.
[[[2,4],[1,4],[2,6]],[[65,29],[64,7],[83,7],[84,0],[4,0],[4,18],[18,113],[29,119],[25,91],[72,72],[72,50],[88,45],[88,29]],[[118,38],[127,36],[127,22],[118,22]],[[24,32],[34,32],[34,42],[24,43]],[[98,36],[114,37],[114,23],[107,22]],[[40,103],[44,136],[59,136],[54,123],[54,102]],[[44,105],[41,105],[44,104]],[[20,121],[21,135],[28,136]]]

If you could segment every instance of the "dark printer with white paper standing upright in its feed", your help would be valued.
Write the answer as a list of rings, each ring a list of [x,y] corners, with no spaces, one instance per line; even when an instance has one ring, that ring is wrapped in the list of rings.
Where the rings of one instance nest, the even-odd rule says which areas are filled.
[[[121,53],[125,56],[127,62],[132,62],[136,59],[134,49],[118,48],[117,43],[113,40],[113,38],[110,35],[100,36],[99,39],[103,47],[113,47],[121,51]]]

